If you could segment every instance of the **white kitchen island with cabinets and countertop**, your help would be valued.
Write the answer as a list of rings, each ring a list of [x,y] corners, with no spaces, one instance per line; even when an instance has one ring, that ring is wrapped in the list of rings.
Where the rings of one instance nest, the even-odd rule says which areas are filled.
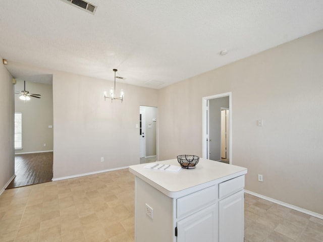
[[[177,159],[156,163],[178,165]],[[136,242],[242,242],[247,169],[200,158],[178,172],[132,165]]]

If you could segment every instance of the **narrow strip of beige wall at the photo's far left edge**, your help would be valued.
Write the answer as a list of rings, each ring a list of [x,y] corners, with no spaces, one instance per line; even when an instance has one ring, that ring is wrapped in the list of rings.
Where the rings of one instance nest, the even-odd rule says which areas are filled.
[[[0,56],[0,59],[3,58]],[[0,63],[0,194],[15,174],[14,154],[14,85],[12,76]]]

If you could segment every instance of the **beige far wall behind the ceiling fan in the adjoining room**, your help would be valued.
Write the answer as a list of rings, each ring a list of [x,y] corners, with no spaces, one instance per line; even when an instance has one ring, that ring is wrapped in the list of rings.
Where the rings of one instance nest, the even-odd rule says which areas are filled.
[[[24,81],[17,80],[16,91],[24,90]],[[52,117],[52,85],[26,82],[26,90],[30,93],[40,94],[41,98],[33,98],[24,102],[15,95],[15,111],[22,113],[22,150],[16,154],[42,152],[53,150]],[[55,127],[54,127],[55,128]],[[44,144],[46,146],[44,147]]]

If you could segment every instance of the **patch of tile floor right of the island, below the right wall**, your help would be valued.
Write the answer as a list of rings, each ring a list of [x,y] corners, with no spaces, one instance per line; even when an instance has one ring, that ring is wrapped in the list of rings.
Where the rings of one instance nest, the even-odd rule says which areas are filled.
[[[323,241],[323,220],[245,194],[245,242]]]

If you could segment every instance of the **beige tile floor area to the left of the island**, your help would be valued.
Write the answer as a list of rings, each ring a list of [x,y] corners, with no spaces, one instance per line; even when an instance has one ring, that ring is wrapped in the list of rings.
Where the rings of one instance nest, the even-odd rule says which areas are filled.
[[[5,190],[0,241],[134,241],[128,169]]]

